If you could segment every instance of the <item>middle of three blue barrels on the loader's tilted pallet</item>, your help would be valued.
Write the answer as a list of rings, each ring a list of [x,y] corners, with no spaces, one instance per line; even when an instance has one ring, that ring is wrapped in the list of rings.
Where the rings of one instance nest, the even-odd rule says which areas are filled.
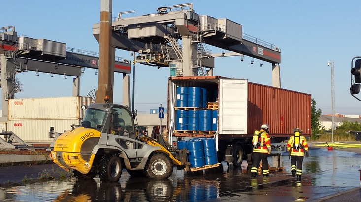
[[[203,141],[191,139],[187,141],[188,160],[190,167],[201,167],[205,165]]]

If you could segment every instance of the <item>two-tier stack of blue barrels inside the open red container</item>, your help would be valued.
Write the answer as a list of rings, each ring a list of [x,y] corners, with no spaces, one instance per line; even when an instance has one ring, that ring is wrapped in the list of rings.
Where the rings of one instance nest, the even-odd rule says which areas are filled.
[[[176,130],[217,130],[218,110],[206,109],[206,88],[178,86],[176,107],[194,108],[194,110],[176,110]]]

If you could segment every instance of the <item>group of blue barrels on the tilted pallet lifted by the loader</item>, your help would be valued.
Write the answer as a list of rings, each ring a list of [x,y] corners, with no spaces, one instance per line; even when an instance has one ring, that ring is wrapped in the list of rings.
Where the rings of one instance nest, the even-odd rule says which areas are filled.
[[[216,140],[214,138],[194,138],[177,142],[178,149],[188,150],[190,167],[202,167],[218,163]]]

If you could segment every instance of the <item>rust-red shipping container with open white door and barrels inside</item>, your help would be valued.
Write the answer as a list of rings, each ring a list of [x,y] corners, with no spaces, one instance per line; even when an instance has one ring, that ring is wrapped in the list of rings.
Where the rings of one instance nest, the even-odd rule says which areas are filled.
[[[220,140],[251,138],[262,124],[270,126],[270,137],[289,137],[295,127],[306,137],[311,134],[310,94],[221,76],[170,77],[168,85],[168,126],[175,137],[213,137],[218,132]],[[195,88],[206,96],[194,96]],[[202,103],[194,105],[196,100]],[[205,116],[195,118],[197,110],[212,110],[211,130],[202,130]]]

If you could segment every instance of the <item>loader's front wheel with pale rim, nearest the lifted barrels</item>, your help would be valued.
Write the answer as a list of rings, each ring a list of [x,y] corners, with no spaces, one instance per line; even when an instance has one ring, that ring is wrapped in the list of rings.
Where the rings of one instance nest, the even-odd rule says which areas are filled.
[[[173,163],[164,153],[155,153],[147,163],[145,176],[151,179],[167,179],[173,173]]]

